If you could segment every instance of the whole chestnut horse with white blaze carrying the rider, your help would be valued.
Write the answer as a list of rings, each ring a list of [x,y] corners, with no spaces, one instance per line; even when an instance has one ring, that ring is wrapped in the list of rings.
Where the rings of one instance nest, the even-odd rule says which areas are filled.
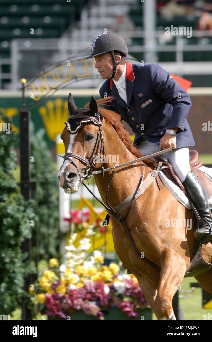
[[[138,149],[132,145],[130,136],[121,123],[120,115],[101,107],[103,104],[107,105],[109,101],[111,101],[110,97],[96,101],[92,96],[90,103],[86,105],[90,108],[90,112],[89,108],[86,108],[87,112],[83,113],[95,116],[98,105],[100,105],[100,113],[103,115],[105,155],[118,155],[119,165],[142,157]],[[70,116],[82,113],[82,109],[77,110],[71,94],[68,107]],[[72,121],[70,121],[70,126]],[[95,142],[97,139],[99,140],[97,135],[99,127],[92,122],[84,122],[84,125],[81,126],[78,127],[76,133],[73,133],[73,127],[72,134],[67,130],[68,126],[65,127],[61,139],[65,146],[65,153],[75,153],[82,156],[82,159],[88,159],[93,154],[98,155],[100,152],[99,141],[93,152]],[[58,177],[60,186],[65,192],[69,189],[70,193],[76,193],[83,181],[83,176],[86,175],[86,167],[75,157],[71,159],[73,162],[70,161],[70,158],[64,160]],[[114,166],[107,162],[106,160],[103,164],[104,168]],[[150,170],[155,167],[155,163],[153,159],[145,159],[143,164],[145,165],[144,178],[146,178]],[[100,166],[100,163],[96,164],[94,170]],[[104,177],[101,174],[94,175],[95,183],[105,205],[105,194],[111,172],[105,172]],[[116,207],[136,189],[142,172],[143,166],[140,161],[116,169],[108,192],[108,203],[111,207]],[[127,209],[120,214],[123,215],[126,211]],[[194,228],[187,230],[185,227],[167,227],[166,219],[171,220],[171,218],[192,219],[192,213],[165,186],[160,188],[156,180],[134,201],[125,218],[125,224],[137,249],[143,252],[146,258],[160,266],[161,272],[159,273],[139,257],[122,225],[111,217],[115,251],[124,265],[138,279],[139,286],[157,319],[176,319],[172,308],[172,298],[186,271],[190,268],[190,257],[194,246]],[[206,261],[212,263],[212,245],[210,243],[202,246],[202,255]],[[212,294],[212,269],[195,276],[195,278],[207,292]]]

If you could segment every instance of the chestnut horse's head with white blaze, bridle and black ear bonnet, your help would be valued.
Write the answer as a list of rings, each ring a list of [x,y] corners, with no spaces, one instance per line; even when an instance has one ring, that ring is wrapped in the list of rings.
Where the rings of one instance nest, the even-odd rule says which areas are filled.
[[[65,155],[58,171],[58,178],[64,191],[73,194],[78,191],[80,183],[94,167],[93,154],[97,153],[100,141],[100,152],[103,151],[104,154],[101,126],[103,115],[98,111],[94,96],[91,96],[89,107],[77,109],[70,93],[68,108],[70,117],[65,122],[66,127],[61,134]]]

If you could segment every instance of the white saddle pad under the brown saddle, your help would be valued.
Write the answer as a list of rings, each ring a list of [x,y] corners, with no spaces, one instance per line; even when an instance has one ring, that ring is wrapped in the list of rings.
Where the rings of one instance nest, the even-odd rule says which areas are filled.
[[[165,166],[164,168],[167,168],[167,166]],[[161,167],[161,169],[163,169],[163,166]],[[199,168],[202,172],[204,172],[208,178],[210,179],[211,183],[212,183],[212,179],[209,177],[212,177],[212,169],[211,168],[207,168],[205,166],[202,166]],[[191,203],[190,200],[185,196],[185,194],[182,192],[182,190],[179,188],[179,186],[177,184],[175,184],[174,182],[172,182],[171,180],[169,180],[166,175],[163,173],[163,171],[159,171],[159,177],[162,180],[163,184],[167,187],[167,189],[169,189],[169,191],[172,193],[172,195],[174,195],[177,200],[187,209],[191,209]],[[209,198],[208,200],[209,202],[209,206],[212,209],[212,196]]]

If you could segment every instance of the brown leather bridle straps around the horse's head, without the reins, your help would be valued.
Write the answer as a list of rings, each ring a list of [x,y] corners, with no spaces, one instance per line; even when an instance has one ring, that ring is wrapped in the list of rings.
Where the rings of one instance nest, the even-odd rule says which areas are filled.
[[[89,116],[89,115],[82,115],[82,114],[76,114],[76,115],[71,115],[68,120],[70,119],[87,119],[87,120],[91,120],[95,125],[99,126],[99,131],[97,133],[97,137],[96,137],[96,142],[95,142],[95,146],[93,148],[93,151],[92,151],[92,154],[90,156],[89,159],[86,159],[76,153],[73,153],[73,152],[69,152],[69,153],[65,153],[64,156],[61,156],[58,154],[59,157],[62,157],[63,158],[63,162],[68,159],[77,169],[77,172],[78,172],[78,175],[80,177],[80,181],[81,179],[89,179],[92,175],[92,170],[95,166],[95,162],[93,163],[93,154],[96,150],[96,147],[97,147],[97,144],[99,142],[99,138],[100,138],[100,141],[101,141],[101,146],[100,146],[100,153],[103,153],[103,155],[105,154],[105,144],[104,144],[104,134],[103,134],[103,130],[102,130],[102,122],[101,122],[101,119],[100,119],[100,116],[99,116],[99,113],[95,113],[94,116]],[[76,165],[76,163],[71,159],[71,158],[75,158],[79,161],[81,161],[82,163],[84,163],[86,165],[86,175],[85,176],[81,176],[80,172],[79,172],[79,169]],[[101,166],[102,166],[103,162],[101,163]],[[100,167],[101,167],[100,166]]]

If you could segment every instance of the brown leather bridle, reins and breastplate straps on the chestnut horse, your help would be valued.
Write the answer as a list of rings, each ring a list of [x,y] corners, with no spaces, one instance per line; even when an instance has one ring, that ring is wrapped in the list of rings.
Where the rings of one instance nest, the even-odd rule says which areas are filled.
[[[95,142],[95,145],[94,145],[92,154],[91,154],[91,156],[90,156],[89,159],[86,159],[86,158],[84,158],[84,157],[82,157],[82,156],[80,156],[80,155],[78,155],[78,154],[72,153],[72,152],[70,152],[70,153],[65,153],[64,156],[61,156],[61,155],[58,154],[58,156],[59,156],[59,157],[62,157],[62,158],[64,159],[63,161],[65,161],[66,159],[68,159],[68,160],[76,167],[77,173],[78,173],[78,175],[79,175],[79,177],[80,177],[80,183],[81,183],[81,180],[82,180],[82,179],[87,179],[87,180],[89,180],[89,178],[90,178],[92,175],[94,175],[94,174],[101,173],[101,174],[102,174],[102,177],[104,177],[104,173],[105,173],[105,172],[112,170],[112,174],[111,174],[111,177],[110,177],[110,180],[109,180],[109,183],[108,183],[108,186],[107,186],[106,194],[105,194],[105,202],[106,202],[107,205],[105,205],[101,200],[99,200],[99,198],[97,198],[97,197],[91,192],[91,190],[86,186],[86,184],[85,184],[83,181],[82,181],[82,184],[87,188],[87,190],[92,194],[92,196],[93,196],[97,201],[99,201],[99,202],[101,203],[101,205],[107,210],[108,214],[107,214],[107,216],[106,216],[106,218],[105,218],[105,221],[107,221],[107,224],[106,224],[106,225],[108,225],[109,216],[113,216],[116,220],[118,220],[118,223],[120,223],[120,224],[123,226],[123,228],[124,228],[124,230],[125,230],[125,232],[126,232],[128,238],[129,238],[130,241],[131,241],[131,244],[133,245],[133,248],[135,249],[135,251],[136,251],[136,253],[139,255],[139,257],[142,258],[143,260],[145,260],[149,265],[151,265],[154,269],[156,269],[156,271],[158,271],[158,272],[160,273],[160,272],[161,272],[161,268],[160,268],[159,266],[157,266],[155,263],[153,263],[151,260],[147,259],[146,257],[142,257],[142,256],[141,256],[142,253],[140,253],[139,250],[137,249],[137,247],[136,247],[136,245],[135,245],[135,242],[133,241],[133,238],[132,238],[132,236],[130,235],[130,232],[128,231],[128,228],[127,228],[127,226],[126,226],[126,224],[125,224],[125,222],[124,222],[124,219],[125,219],[125,217],[127,216],[127,214],[129,213],[129,211],[130,211],[130,209],[131,209],[131,207],[132,207],[134,201],[135,201],[135,200],[138,198],[138,196],[139,196],[139,191],[141,190],[141,185],[142,185],[143,180],[144,180],[144,173],[145,173],[144,167],[145,167],[146,165],[144,165],[144,164],[142,163],[142,167],[143,167],[142,175],[141,175],[140,180],[139,180],[139,182],[138,182],[138,185],[137,185],[137,188],[136,188],[136,190],[135,190],[135,193],[134,193],[134,195],[133,195],[133,197],[132,197],[132,199],[131,199],[131,202],[130,202],[130,204],[129,204],[129,206],[128,206],[128,209],[127,209],[126,213],[125,213],[123,216],[119,215],[119,213],[118,213],[117,211],[115,211],[115,210],[109,205],[109,203],[108,203],[108,192],[109,192],[109,188],[110,188],[110,185],[111,185],[111,182],[112,182],[112,179],[113,179],[113,175],[114,175],[114,172],[115,172],[116,168],[120,168],[120,167],[125,166],[125,165],[131,165],[131,164],[136,163],[136,162],[138,162],[138,161],[142,161],[142,160],[144,160],[144,159],[147,159],[147,158],[151,158],[151,157],[160,155],[160,154],[162,154],[162,153],[164,153],[164,152],[168,152],[168,151],[172,150],[173,147],[171,146],[171,147],[169,147],[169,148],[167,148],[167,149],[165,149],[165,150],[162,150],[162,151],[159,151],[159,152],[156,152],[156,153],[153,153],[153,154],[144,156],[144,157],[140,157],[140,158],[138,158],[138,159],[130,160],[130,161],[127,161],[127,162],[125,162],[125,163],[123,163],[123,164],[120,164],[120,165],[117,165],[117,166],[112,166],[112,167],[107,168],[107,169],[104,169],[104,167],[102,166],[102,165],[103,165],[103,162],[102,162],[102,163],[101,163],[101,166],[98,168],[98,169],[101,168],[101,170],[97,171],[98,169],[96,169],[95,171],[93,171],[93,168],[95,167],[95,162],[93,162],[93,159],[92,159],[92,158],[93,158],[94,152],[96,151],[96,148],[97,148],[97,144],[98,144],[98,142],[99,142],[99,139],[100,139],[100,142],[101,142],[100,153],[103,153],[103,155],[105,154],[104,134],[103,134],[103,130],[102,130],[102,123],[101,123],[101,119],[100,119],[99,113],[98,113],[98,112],[95,113],[95,117],[94,117],[94,116],[88,116],[88,115],[82,115],[82,114],[71,115],[71,116],[69,117],[69,119],[89,119],[89,120],[91,120],[95,125],[99,126],[99,131],[98,131],[98,133],[97,133],[96,142]],[[68,120],[69,120],[69,119],[68,119]],[[79,160],[79,161],[81,161],[82,163],[84,163],[84,164],[86,165],[86,175],[81,176],[81,174],[80,174],[80,172],[79,172],[79,169],[78,169],[76,163],[72,160],[72,157],[75,158],[75,159],[77,159],[77,160]],[[157,168],[155,168],[156,171],[151,170],[151,171],[153,171],[153,172],[151,172],[151,175],[152,175],[153,177],[157,177],[158,172],[159,172],[160,167],[161,167],[161,164],[162,164],[162,163],[159,163],[159,165],[157,166]],[[88,183],[88,184],[89,184],[89,183]],[[105,222],[105,221],[104,221],[104,222]]]

